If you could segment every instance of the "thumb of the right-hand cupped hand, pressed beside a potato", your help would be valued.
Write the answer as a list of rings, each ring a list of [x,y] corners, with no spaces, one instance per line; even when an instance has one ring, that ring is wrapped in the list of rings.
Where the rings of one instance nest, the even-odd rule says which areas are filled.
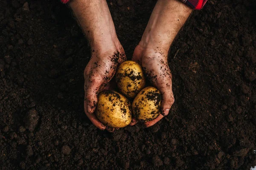
[[[161,113],[163,116],[167,116],[170,108],[172,107],[174,103],[174,96],[172,93],[172,90],[166,91],[161,91],[162,94],[162,103],[161,103]]]

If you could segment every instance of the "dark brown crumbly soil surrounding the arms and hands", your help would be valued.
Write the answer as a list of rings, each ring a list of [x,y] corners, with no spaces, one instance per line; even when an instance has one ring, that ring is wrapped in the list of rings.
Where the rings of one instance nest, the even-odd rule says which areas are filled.
[[[131,58],[156,0],[108,0]],[[175,104],[113,133],[83,111],[90,48],[58,0],[0,1],[0,169],[221,169],[256,165],[256,3],[209,0],[173,42]]]

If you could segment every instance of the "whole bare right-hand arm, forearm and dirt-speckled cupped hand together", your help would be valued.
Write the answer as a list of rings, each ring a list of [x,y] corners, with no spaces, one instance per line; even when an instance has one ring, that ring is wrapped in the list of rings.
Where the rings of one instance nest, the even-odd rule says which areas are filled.
[[[146,127],[166,116],[174,103],[168,51],[191,12],[192,9],[179,0],[158,0],[141,41],[134,50],[132,59],[142,65],[146,77],[162,94],[161,114],[145,122]],[[130,125],[136,123],[137,120],[133,119]]]

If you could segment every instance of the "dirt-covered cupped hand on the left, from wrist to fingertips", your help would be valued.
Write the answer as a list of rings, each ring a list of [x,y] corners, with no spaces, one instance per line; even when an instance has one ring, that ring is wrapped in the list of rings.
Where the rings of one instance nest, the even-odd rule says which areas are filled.
[[[103,125],[94,113],[98,94],[109,90],[109,82],[116,73],[117,66],[125,60],[121,45],[118,49],[108,51],[92,50],[92,57],[84,69],[84,112],[93,125],[101,130],[113,131],[113,128]]]

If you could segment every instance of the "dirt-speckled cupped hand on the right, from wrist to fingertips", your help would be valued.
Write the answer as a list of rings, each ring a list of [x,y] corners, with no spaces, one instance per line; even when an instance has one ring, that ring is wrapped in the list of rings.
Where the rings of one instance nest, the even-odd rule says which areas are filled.
[[[157,123],[164,116],[168,115],[174,96],[172,92],[172,74],[168,65],[168,51],[161,48],[142,48],[140,45],[134,50],[132,57],[142,65],[143,72],[150,82],[161,92],[162,103],[160,115],[149,122],[145,122],[146,127],[150,127]],[[135,125],[136,119],[133,119],[130,125]]]

